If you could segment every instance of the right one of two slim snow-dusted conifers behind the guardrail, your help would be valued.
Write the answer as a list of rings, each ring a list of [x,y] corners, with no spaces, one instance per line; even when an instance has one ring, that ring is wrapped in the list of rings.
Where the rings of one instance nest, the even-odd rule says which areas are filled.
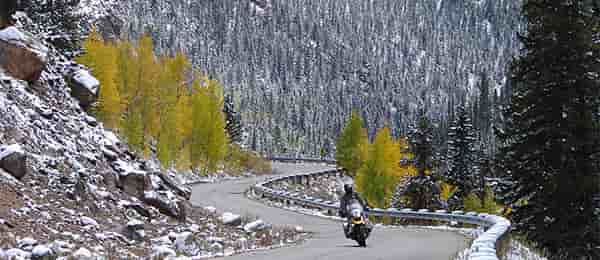
[[[475,188],[477,175],[475,133],[469,112],[463,105],[457,109],[456,119],[448,132],[448,171],[445,179],[449,184],[457,187],[451,198],[451,207],[462,207],[464,197]]]

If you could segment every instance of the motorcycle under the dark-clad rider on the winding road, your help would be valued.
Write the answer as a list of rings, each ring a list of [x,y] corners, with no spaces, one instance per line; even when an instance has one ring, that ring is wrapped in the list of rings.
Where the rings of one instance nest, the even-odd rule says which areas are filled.
[[[367,238],[373,229],[369,219],[365,214],[363,206],[358,201],[351,201],[348,204],[348,223],[344,228],[346,237],[358,242],[361,247],[367,246]]]

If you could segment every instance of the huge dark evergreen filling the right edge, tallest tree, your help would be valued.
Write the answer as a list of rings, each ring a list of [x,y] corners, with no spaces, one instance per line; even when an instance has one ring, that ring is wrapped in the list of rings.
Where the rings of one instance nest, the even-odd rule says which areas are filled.
[[[500,135],[504,201],[550,259],[600,259],[598,2],[529,0],[522,10],[528,32]]]

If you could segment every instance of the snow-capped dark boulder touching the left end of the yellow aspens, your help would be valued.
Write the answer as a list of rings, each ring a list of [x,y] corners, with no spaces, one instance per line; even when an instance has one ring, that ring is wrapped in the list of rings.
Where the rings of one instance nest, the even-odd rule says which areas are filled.
[[[71,96],[79,101],[79,105],[88,111],[98,99],[100,82],[87,70],[79,69],[68,77]]]

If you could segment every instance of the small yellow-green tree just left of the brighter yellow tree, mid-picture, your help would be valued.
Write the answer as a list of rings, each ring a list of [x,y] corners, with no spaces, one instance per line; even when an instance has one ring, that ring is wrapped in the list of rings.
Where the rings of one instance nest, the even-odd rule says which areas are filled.
[[[356,175],[367,157],[368,143],[363,120],[357,112],[353,112],[337,142],[335,158],[338,165],[346,169],[350,175]]]

